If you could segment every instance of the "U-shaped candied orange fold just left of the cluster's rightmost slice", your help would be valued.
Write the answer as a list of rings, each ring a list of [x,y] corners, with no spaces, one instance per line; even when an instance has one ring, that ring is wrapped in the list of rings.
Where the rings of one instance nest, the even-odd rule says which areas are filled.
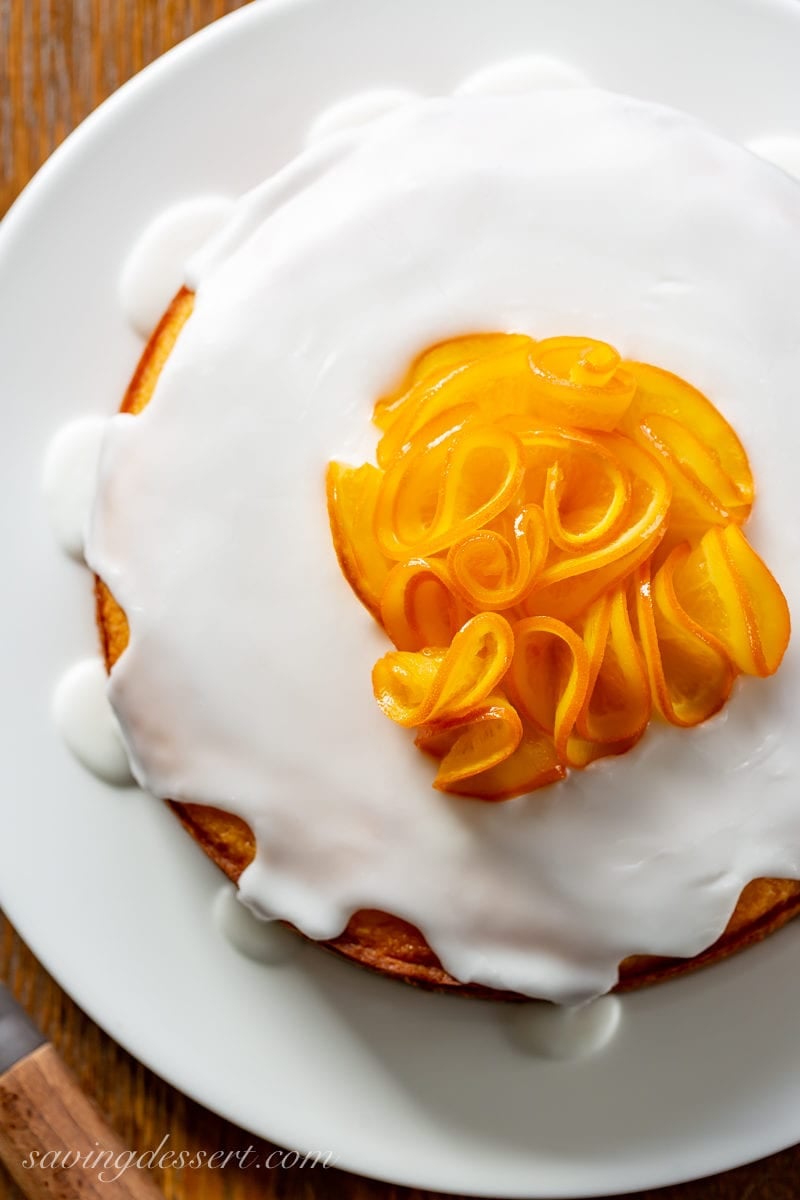
[[[651,578],[637,572],[637,618],[652,702],[672,725],[699,725],[727,701],[735,672],[722,643],[692,620],[674,589],[675,569],[688,553],[676,546]]]

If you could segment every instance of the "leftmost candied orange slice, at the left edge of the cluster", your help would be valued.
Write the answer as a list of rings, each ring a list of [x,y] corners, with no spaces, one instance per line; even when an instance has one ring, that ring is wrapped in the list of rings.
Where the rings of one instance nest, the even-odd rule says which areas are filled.
[[[327,515],[333,548],[344,578],[373,617],[379,616],[380,594],[392,565],[374,535],[380,480],[381,473],[368,462],[363,467],[331,462],[327,467]]]

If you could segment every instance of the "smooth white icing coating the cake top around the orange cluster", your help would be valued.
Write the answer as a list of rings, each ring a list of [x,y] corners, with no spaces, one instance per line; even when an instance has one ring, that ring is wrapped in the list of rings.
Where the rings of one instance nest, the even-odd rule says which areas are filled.
[[[590,90],[413,104],[240,202],[192,263],[157,402],[109,427],[89,560],[128,613],[110,694],[137,773],[248,821],[252,907],[319,938],[395,912],[458,978],[571,1003],[627,954],[705,948],[747,880],[800,875],[794,646],[724,720],[652,728],[533,798],[437,793],[373,701],[387,643],[342,578],[323,484],[369,452],[373,401],[422,347],[607,338],[733,420],[751,536],[796,608],[799,277],[800,188]]]

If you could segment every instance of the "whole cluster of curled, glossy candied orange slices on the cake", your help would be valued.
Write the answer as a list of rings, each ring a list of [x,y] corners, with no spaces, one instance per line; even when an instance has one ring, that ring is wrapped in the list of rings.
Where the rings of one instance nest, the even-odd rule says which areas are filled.
[[[747,455],[678,376],[479,334],[420,355],[373,420],[377,464],[329,464],[331,533],[396,647],[375,700],[434,787],[531,792],[777,671],[789,610],[742,532]]]

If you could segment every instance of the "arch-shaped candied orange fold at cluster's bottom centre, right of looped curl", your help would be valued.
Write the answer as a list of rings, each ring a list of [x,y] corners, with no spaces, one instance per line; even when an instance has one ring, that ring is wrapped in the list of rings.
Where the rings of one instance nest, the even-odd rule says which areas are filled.
[[[589,689],[583,638],[554,617],[529,617],[515,625],[507,686],[519,712],[553,738],[559,761],[567,754]]]

